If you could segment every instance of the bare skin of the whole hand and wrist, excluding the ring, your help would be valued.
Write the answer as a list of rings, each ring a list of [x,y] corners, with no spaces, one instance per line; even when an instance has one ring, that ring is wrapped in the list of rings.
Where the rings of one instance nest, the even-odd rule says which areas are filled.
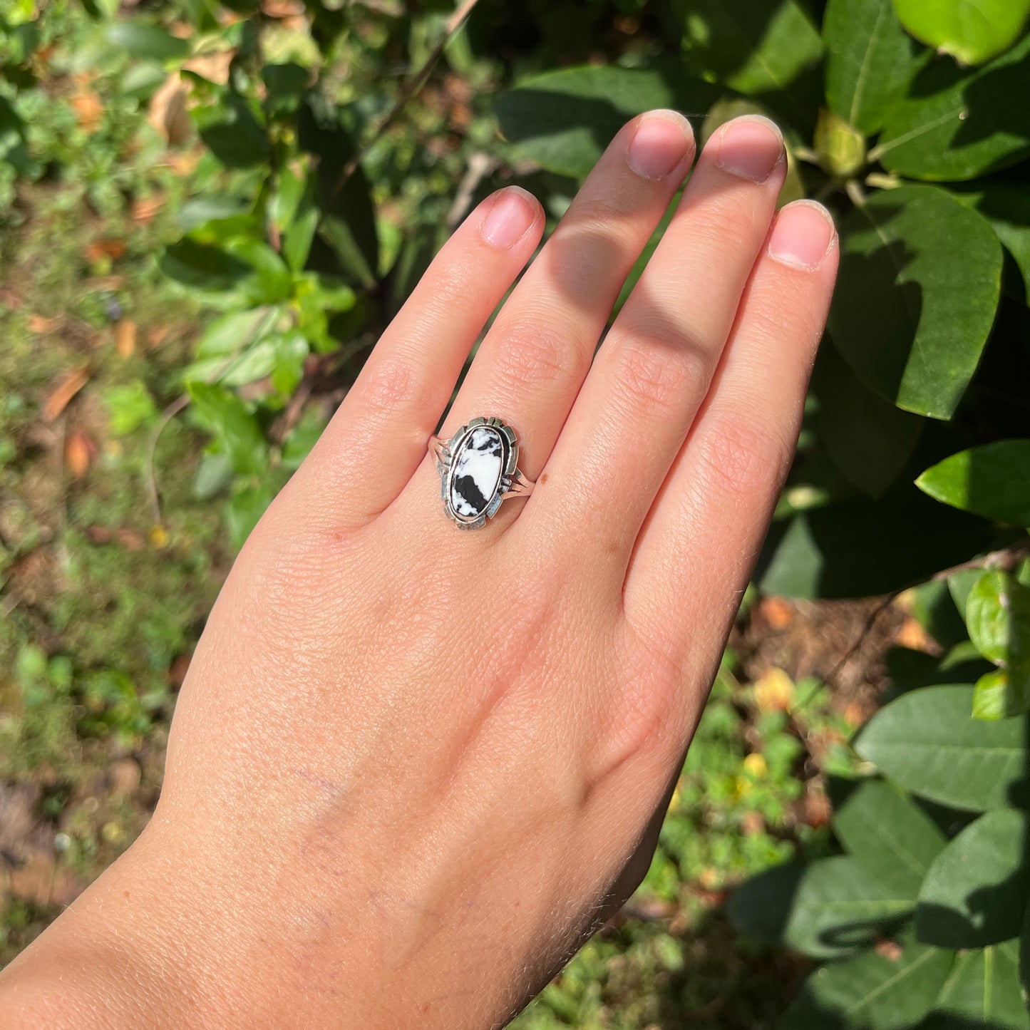
[[[693,160],[674,112],[624,127],[494,319],[441,435],[496,415],[539,482],[475,533],[426,443],[544,217],[509,187],[455,232],[233,566],[149,826],[0,974],[6,1027],[500,1027],[628,897],[837,262],[737,119],[606,335]]]

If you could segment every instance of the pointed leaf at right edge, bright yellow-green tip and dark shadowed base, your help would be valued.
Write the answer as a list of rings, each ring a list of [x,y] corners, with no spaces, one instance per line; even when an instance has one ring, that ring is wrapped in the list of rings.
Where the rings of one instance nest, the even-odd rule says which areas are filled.
[[[953,508],[1030,525],[1030,440],[996,440],[959,451],[927,469],[916,485]]]

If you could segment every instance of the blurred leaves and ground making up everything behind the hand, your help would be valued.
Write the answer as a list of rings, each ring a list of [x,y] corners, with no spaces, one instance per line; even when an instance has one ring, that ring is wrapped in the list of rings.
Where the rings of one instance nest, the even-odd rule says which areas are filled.
[[[645,884],[515,1025],[1030,1027],[1028,10],[0,0],[0,963],[145,824],[234,554],[453,227],[760,111],[843,237],[798,459]]]

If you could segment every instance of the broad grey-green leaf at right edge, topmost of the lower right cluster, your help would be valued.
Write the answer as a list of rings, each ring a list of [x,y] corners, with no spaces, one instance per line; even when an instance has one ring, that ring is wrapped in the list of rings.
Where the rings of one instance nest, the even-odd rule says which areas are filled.
[[[878,712],[855,749],[906,790],[984,812],[1030,801],[1023,719],[973,719],[972,687],[923,687]]]

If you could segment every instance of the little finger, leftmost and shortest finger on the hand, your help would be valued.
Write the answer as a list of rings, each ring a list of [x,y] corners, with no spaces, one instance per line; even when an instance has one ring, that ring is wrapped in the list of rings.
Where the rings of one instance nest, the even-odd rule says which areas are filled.
[[[483,201],[437,254],[299,474],[342,521],[373,518],[411,478],[473,345],[543,229],[537,200],[509,186]]]

